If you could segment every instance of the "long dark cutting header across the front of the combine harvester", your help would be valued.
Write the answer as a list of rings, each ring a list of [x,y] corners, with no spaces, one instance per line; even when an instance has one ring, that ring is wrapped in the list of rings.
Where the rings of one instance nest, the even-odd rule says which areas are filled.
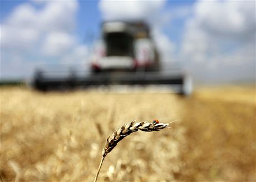
[[[83,77],[69,75],[67,77],[44,77],[41,73],[35,77],[33,86],[38,90],[58,90],[88,88],[97,85],[171,85],[175,92],[184,94],[186,76],[181,73],[100,73]]]

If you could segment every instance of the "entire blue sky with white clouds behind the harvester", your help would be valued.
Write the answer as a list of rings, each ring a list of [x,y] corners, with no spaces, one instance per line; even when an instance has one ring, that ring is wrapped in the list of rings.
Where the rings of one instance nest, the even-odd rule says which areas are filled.
[[[1,79],[45,64],[87,67],[102,21],[142,19],[165,67],[202,82],[255,81],[255,1],[4,1]]]

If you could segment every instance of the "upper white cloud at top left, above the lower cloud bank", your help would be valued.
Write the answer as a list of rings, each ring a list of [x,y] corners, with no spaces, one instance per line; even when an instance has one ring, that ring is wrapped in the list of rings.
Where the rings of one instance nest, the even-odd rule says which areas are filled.
[[[30,45],[52,31],[70,33],[75,28],[77,6],[76,1],[47,1],[41,9],[21,4],[1,24],[2,46]]]

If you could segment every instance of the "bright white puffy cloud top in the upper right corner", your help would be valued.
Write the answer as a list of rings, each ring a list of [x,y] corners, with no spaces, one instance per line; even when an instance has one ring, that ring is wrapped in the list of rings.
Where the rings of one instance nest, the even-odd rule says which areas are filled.
[[[196,23],[218,36],[243,36],[255,32],[255,2],[200,1],[195,5]]]

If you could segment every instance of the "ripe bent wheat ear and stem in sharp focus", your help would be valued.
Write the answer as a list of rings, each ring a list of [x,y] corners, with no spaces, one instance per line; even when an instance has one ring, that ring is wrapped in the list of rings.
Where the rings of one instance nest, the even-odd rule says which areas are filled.
[[[161,129],[168,128],[168,125],[169,124],[165,124],[165,123],[149,123],[149,122],[135,123],[135,120],[133,120],[131,123],[124,124],[122,125],[121,128],[117,128],[111,136],[107,137],[106,144],[102,150],[102,158],[101,158],[99,169],[95,176],[94,182],[97,181],[98,175],[100,173],[101,165],[103,163],[105,156],[108,153],[110,153],[110,151],[115,148],[117,143],[119,143],[119,141],[125,138],[125,136],[128,136],[131,133],[137,132],[138,130],[141,130],[143,132],[159,131]]]

